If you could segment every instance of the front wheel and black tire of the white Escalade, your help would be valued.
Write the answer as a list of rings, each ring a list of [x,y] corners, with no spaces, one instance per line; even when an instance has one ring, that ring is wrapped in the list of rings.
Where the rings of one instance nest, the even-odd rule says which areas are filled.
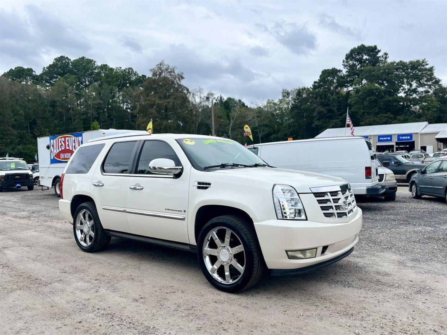
[[[197,256],[203,275],[224,292],[248,289],[264,274],[256,233],[239,216],[223,215],[207,222],[198,237]]]

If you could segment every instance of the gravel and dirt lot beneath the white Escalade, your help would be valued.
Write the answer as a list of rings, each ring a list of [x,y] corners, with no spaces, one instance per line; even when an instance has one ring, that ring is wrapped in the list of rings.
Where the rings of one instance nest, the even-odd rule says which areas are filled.
[[[49,191],[0,193],[3,334],[447,334],[447,205],[359,201],[344,260],[239,294],[208,284],[194,254],[112,239],[87,254]]]

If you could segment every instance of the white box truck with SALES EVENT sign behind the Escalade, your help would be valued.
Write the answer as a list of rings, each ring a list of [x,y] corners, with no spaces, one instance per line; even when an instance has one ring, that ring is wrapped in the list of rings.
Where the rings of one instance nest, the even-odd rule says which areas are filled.
[[[40,185],[54,188],[60,197],[60,176],[68,160],[81,144],[93,138],[117,134],[147,134],[143,130],[99,129],[80,133],[39,137],[37,139]]]

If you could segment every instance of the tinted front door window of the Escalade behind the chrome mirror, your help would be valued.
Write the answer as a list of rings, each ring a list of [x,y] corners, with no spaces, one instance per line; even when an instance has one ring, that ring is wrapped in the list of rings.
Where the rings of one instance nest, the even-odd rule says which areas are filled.
[[[152,174],[152,172],[148,171],[148,166],[152,159],[156,158],[172,159],[175,166],[181,166],[180,159],[178,159],[168,143],[162,141],[146,141],[141,150],[136,173]]]

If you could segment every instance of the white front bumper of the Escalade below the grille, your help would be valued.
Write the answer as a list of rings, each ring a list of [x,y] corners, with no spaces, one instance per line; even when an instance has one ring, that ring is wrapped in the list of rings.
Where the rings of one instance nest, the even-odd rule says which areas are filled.
[[[336,259],[352,249],[358,242],[358,234],[362,229],[362,210],[357,208],[357,214],[345,223],[295,220],[254,221],[267,268],[273,273],[280,273],[281,271],[276,270],[298,271],[300,268],[320,263],[328,262],[326,264],[329,264],[329,260]],[[326,246],[327,249],[322,254],[322,249]],[[291,260],[287,257],[286,250],[312,248],[317,249],[314,258]]]

